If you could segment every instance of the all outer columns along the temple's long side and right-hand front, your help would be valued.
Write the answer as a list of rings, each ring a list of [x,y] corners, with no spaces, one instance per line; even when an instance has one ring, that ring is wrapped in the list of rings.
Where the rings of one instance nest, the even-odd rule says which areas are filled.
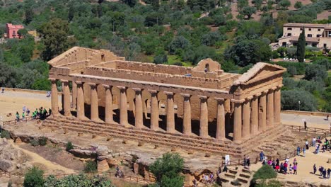
[[[58,98],[57,98],[57,80],[52,81],[52,111],[54,115],[59,114]],[[64,115],[71,115],[71,95],[69,82],[61,80],[63,85],[63,109]],[[91,120],[100,122],[98,113],[98,92],[97,84],[89,83],[91,86]],[[112,86],[103,85],[105,87],[105,123],[114,123],[112,113]],[[128,125],[127,115],[127,87],[117,86],[120,89],[120,124]],[[83,83],[76,81],[73,83],[73,108],[76,108],[77,118],[88,120],[84,111],[84,93]],[[133,88],[135,91],[135,108],[134,126],[136,128],[144,128],[143,124],[143,101],[141,97],[141,89]],[[151,94],[151,130],[158,130],[158,91],[148,90]],[[174,110],[174,93],[165,91],[166,99],[166,131],[175,132],[175,110]],[[184,98],[183,103],[183,125],[182,133],[191,135],[191,103],[190,94],[180,94]],[[214,98],[217,101],[216,108],[216,139],[223,140],[226,137],[225,130],[225,110],[224,98]],[[199,136],[209,137],[208,135],[208,106],[207,96],[199,96],[200,100],[200,125]],[[280,123],[280,86],[269,91],[264,91],[261,94],[246,98],[245,100],[231,100],[234,103],[233,111],[233,141],[240,142],[242,139],[256,135],[257,132],[266,130],[267,127]]]

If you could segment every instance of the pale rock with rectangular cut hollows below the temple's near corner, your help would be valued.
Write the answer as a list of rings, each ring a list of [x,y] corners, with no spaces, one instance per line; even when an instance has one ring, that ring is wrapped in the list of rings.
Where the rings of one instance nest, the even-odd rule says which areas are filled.
[[[222,186],[250,186],[252,171],[243,166],[229,167],[228,172],[221,172],[219,179]]]

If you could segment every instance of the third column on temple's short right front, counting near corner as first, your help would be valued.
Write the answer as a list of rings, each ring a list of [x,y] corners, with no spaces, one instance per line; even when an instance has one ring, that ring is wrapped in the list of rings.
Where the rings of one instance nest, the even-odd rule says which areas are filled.
[[[256,135],[259,130],[259,95],[255,95],[250,104],[250,135]]]

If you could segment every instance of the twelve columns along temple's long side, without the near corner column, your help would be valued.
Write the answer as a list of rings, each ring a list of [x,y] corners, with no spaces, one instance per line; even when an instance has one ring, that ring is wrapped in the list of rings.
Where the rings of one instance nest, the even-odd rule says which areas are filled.
[[[57,100],[57,80],[50,79],[52,81],[52,111],[54,111],[54,115],[59,115],[58,110],[58,100]],[[63,88],[63,105],[64,105],[64,115],[71,115],[71,96],[69,90],[69,82],[66,80],[62,81]],[[98,93],[97,93],[97,85],[94,83],[89,83],[91,86],[91,120],[100,122],[99,113],[98,113]],[[105,123],[113,123],[112,116],[112,86],[103,85],[105,87]],[[128,116],[127,116],[127,87],[117,86],[120,89],[120,124],[127,125],[128,124]],[[72,96],[72,104],[73,108],[76,108],[77,118],[81,120],[87,120],[84,111],[84,93],[83,93],[83,83],[81,81],[76,81],[73,84],[73,96]],[[134,125],[136,128],[143,128],[143,102],[141,97],[141,89],[133,88],[135,91],[135,108],[134,115],[135,121]],[[149,90],[151,94],[151,130],[158,130],[158,118],[159,118],[159,108],[158,108],[158,91]],[[174,110],[174,93],[165,91],[164,94],[167,96],[166,100],[166,131],[167,132],[175,132],[175,110]],[[192,126],[191,126],[191,103],[189,94],[180,94],[184,98],[183,103],[183,134],[191,135]],[[200,129],[199,135],[200,137],[209,137],[208,135],[208,106],[207,106],[207,96],[199,96],[200,99]],[[216,139],[224,139],[225,138],[225,111],[224,111],[224,99],[223,98],[215,98],[217,105],[217,127],[216,127]]]

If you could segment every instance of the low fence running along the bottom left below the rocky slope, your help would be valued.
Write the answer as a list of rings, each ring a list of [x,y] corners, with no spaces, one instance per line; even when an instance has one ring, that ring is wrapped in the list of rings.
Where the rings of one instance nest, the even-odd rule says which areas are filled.
[[[52,175],[55,176],[57,179],[62,179],[66,176],[70,176],[70,175],[79,175],[82,173],[74,173],[74,174],[62,174],[62,175]],[[109,178],[116,178],[116,179],[120,179],[123,181],[128,181],[128,182],[132,182],[132,183],[139,183],[139,184],[150,184],[152,183],[150,180],[144,179],[143,177],[138,177],[138,176],[129,176],[129,175],[124,175],[123,177],[116,177],[116,174],[110,171],[107,172],[103,172],[103,173],[88,173],[88,176],[105,176],[105,177],[109,177]],[[47,176],[50,175],[45,175],[44,177],[47,178]],[[11,172],[7,172],[7,171],[0,171],[0,178],[18,178],[18,179],[24,179],[24,175],[23,174],[13,174]]]

